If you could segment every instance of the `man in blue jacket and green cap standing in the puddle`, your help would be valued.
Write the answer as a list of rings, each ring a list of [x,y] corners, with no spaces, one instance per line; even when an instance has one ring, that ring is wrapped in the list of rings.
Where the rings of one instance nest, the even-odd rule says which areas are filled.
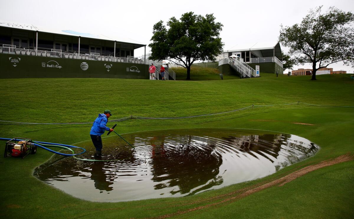
[[[108,118],[112,116],[110,110],[104,110],[104,113],[98,114],[97,119],[93,122],[93,125],[91,127],[90,131],[90,136],[92,139],[93,145],[95,145],[96,152],[95,152],[95,158],[101,158],[102,155],[102,134],[104,131],[113,131],[113,128],[108,128],[107,122]]]

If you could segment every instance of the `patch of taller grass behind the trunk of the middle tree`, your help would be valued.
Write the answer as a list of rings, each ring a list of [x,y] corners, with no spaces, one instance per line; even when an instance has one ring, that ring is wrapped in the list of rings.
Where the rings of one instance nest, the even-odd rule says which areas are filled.
[[[187,78],[187,69],[183,67],[173,67],[176,73],[176,80],[185,80]],[[210,81],[221,80],[219,76],[219,69],[206,68],[201,66],[190,67],[190,80],[192,81]],[[238,75],[223,75],[224,80],[238,79]]]

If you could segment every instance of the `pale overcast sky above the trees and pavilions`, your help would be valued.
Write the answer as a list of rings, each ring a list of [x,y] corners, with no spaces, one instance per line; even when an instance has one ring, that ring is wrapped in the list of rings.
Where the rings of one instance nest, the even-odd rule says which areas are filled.
[[[354,11],[353,0],[252,0],[252,1],[105,1],[61,0],[25,1],[0,0],[0,20],[33,24],[39,28],[75,30],[83,33],[103,34],[111,37],[131,38],[149,44],[153,25],[171,17],[180,18],[185,12],[198,15],[213,13],[224,27],[221,38],[224,50],[236,50],[242,45],[275,45],[280,24],[301,23],[310,8],[323,5],[322,11],[335,6],[343,11]],[[257,48],[257,45],[255,46]],[[287,52],[287,48],[282,47]],[[149,48],[147,48],[147,53]],[[144,48],[135,50],[141,56]],[[333,70],[353,73],[351,66],[332,64]],[[295,66],[311,68],[310,64]]]

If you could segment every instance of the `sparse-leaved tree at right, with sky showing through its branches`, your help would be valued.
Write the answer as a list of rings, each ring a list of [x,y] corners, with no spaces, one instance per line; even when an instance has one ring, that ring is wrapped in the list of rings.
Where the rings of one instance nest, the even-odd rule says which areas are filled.
[[[290,47],[295,63],[312,63],[311,80],[316,80],[318,69],[332,63],[354,63],[353,13],[330,7],[321,14],[321,8],[311,9],[301,24],[285,28],[281,25],[279,36],[279,41]]]

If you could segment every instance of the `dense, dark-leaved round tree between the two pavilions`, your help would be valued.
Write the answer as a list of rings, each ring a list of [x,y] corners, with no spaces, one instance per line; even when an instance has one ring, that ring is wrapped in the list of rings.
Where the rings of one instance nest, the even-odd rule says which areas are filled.
[[[167,59],[187,69],[190,80],[190,67],[197,60],[215,61],[222,52],[223,43],[219,37],[222,24],[215,22],[213,14],[194,15],[184,13],[178,20],[170,18],[167,27],[162,21],[154,25],[153,41],[149,44],[153,59]]]

